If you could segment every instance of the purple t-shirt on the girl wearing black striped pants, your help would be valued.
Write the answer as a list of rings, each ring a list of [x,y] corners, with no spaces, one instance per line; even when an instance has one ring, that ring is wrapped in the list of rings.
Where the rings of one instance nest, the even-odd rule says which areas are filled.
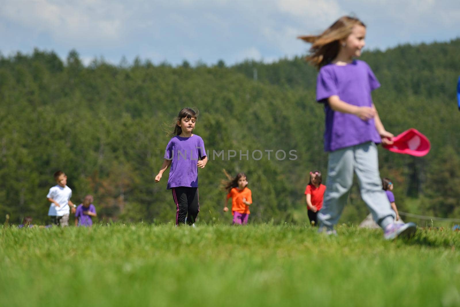
[[[206,157],[203,139],[196,134],[190,137],[174,136],[166,146],[165,159],[173,160],[167,189],[177,187],[198,188],[199,158]]]

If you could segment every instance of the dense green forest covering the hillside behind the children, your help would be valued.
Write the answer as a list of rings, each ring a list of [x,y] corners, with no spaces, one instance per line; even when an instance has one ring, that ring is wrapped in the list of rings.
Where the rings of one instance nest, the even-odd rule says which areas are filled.
[[[423,158],[379,148],[381,175],[395,182],[402,211],[460,216],[459,49],[456,39],[362,56],[382,84],[373,98],[385,128],[396,135],[414,127],[431,141]],[[0,214],[45,222],[52,174],[63,170],[72,200],[80,204],[93,194],[99,219],[171,221],[167,177],[155,184],[154,176],[168,142],[166,125],[191,106],[200,110],[195,133],[207,150],[225,153],[199,171],[201,221],[230,222],[222,212],[225,169],[247,173],[253,222],[302,222],[296,212],[305,210],[308,172],[327,173],[315,84],[316,70],[303,57],[173,67],[138,58],[84,66],[75,50],[65,62],[53,51],[0,56]],[[296,159],[289,159],[292,150]],[[263,156],[254,159],[258,151]],[[282,152],[286,158],[278,159]],[[341,221],[359,222],[367,209],[357,183],[349,202]]]

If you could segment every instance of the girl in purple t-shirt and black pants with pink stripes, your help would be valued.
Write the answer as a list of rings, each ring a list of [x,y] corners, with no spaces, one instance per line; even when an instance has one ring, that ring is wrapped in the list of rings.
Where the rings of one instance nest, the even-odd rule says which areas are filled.
[[[176,226],[185,224],[186,221],[193,225],[200,212],[198,167],[206,166],[207,156],[203,139],[192,133],[197,117],[197,112],[191,108],[180,110],[172,125],[173,138],[166,146],[165,160],[155,176],[155,182],[159,182],[163,173],[171,166],[167,189],[172,190],[176,204]]]

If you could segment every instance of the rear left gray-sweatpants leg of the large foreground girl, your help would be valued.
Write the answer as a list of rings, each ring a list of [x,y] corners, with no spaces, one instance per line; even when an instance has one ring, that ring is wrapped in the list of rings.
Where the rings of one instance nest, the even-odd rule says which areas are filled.
[[[317,217],[320,227],[332,229],[339,221],[353,184],[353,147],[329,153],[328,179],[324,203]]]

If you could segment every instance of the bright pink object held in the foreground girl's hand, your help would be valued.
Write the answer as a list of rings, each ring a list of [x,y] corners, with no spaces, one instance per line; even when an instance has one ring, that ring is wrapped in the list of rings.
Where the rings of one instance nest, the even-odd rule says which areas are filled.
[[[383,145],[383,148],[393,153],[405,153],[416,157],[423,157],[431,148],[430,141],[417,129],[411,128],[400,135],[393,137],[393,144]]]

